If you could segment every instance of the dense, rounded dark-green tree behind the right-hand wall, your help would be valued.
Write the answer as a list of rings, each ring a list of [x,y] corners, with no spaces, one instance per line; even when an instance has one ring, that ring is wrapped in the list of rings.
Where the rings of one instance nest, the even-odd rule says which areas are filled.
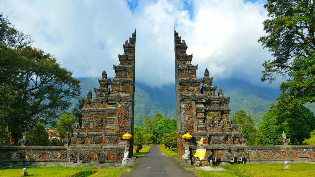
[[[281,145],[282,133],[287,134],[291,144],[301,144],[315,129],[315,117],[305,106],[288,109],[284,103],[271,106],[259,124],[258,138],[263,145]]]

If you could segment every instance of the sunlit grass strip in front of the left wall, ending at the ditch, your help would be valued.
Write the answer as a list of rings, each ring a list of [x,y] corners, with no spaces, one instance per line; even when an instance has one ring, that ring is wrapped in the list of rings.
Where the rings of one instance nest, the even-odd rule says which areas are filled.
[[[1,177],[18,177],[21,176],[23,168],[13,167],[13,168],[0,168]],[[36,177],[70,177],[77,173],[80,176],[85,177],[92,174],[91,170],[96,168],[72,168],[72,167],[28,167],[27,173],[29,176]]]

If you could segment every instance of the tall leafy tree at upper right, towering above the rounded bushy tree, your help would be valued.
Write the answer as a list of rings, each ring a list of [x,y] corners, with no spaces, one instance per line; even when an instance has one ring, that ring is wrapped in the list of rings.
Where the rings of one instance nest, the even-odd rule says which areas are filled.
[[[264,21],[267,35],[258,41],[274,59],[263,63],[262,81],[277,77],[287,80],[280,85],[288,108],[315,101],[315,3],[313,0],[269,0]],[[288,92],[288,93],[287,93]]]

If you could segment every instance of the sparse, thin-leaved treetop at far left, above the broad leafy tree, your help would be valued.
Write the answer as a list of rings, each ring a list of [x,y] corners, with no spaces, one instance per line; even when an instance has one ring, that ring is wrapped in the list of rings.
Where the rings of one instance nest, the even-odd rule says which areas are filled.
[[[34,40],[30,35],[24,34],[14,28],[7,17],[0,13],[0,43],[11,49],[23,49]]]

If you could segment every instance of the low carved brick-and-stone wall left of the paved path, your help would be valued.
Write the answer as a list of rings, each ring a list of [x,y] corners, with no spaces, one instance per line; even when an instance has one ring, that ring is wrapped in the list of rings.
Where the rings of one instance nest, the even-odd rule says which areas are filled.
[[[124,146],[0,146],[0,167],[120,167]]]

